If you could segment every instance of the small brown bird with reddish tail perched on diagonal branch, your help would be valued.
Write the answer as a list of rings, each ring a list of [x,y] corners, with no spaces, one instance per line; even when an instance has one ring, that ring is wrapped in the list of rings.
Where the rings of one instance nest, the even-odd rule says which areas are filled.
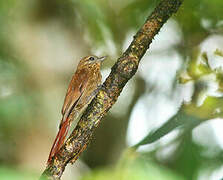
[[[87,105],[95,97],[101,86],[100,67],[107,56],[94,55],[82,58],[76,68],[76,72],[68,85],[67,93],[62,107],[62,119],[59,131],[51,148],[47,164],[62,147],[72,122],[86,109]]]

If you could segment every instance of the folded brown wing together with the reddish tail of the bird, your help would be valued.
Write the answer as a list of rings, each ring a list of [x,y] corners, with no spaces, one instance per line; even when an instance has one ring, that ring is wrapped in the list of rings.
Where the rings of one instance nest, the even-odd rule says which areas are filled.
[[[64,105],[62,108],[63,118],[60,123],[59,132],[57,133],[56,139],[54,140],[53,146],[51,148],[48,163],[51,161],[52,157],[58,152],[58,150],[64,143],[73,118],[72,116],[70,116],[71,112],[78,104],[78,101],[80,100],[82,95],[84,94],[87,82],[88,76],[86,73],[82,73],[79,75],[78,73],[75,73],[69,84],[67,94],[64,100]]]

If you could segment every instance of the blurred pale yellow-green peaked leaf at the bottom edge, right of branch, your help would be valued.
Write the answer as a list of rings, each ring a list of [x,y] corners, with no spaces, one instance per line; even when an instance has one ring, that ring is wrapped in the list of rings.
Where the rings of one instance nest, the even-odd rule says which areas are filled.
[[[139,153],[132,151],[132,149],[129,149],[123,153],[121,160],[115,169],[98,170],[87,175],[82,180],[94,179],[183,180],[184,178],[174,174],[164,167],[154,164],[147,156],[140,155]]]

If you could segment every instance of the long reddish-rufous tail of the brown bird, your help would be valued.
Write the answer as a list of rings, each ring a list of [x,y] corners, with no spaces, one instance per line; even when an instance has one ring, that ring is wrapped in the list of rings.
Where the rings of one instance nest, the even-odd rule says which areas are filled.
[[[64,123],[60,125],[59,132],[57,133],[56,139],[54,140],[53,146],[50,150],[50,155],[49,155],[47,164],[51,162],[52,157],[59,151],[59,149],[63,145],[64,140],[69,131],[69,128],[70,128],[70,121],[69,121],[69,117],[67,117]]]

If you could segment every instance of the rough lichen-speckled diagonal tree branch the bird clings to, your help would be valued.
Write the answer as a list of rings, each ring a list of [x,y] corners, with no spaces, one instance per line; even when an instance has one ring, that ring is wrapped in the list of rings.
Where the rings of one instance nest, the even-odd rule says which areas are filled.
[[[111,69],[96,97],[87,107],[70,137],[53,157],[41,178],[60,179],[66,165],[86,149],[102,117],[117,101],[123,87],[136,73],[139,62],[163,24],[176,13],[183,0],[162,0],[134,36],[128,49]]]

